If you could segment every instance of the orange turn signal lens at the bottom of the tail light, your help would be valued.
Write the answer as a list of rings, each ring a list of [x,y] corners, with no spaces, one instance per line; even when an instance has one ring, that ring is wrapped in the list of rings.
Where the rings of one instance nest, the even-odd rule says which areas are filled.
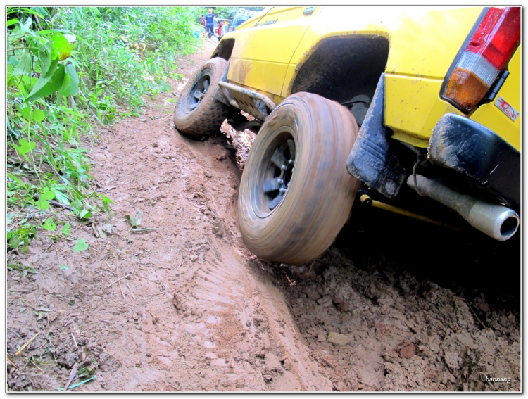
[[[449,79],[444,96],[470,111],[482,100],[489,86],[473,72],[455,68]]]

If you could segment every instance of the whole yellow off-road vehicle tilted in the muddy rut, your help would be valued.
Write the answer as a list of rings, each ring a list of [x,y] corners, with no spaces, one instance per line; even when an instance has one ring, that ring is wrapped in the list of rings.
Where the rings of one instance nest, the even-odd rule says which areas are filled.
[[[503,241],[520,224],[520,58],[520,7],[266,8],[222,38],[174,122],[258,132],[239,224],[262,258],[317,258],[358,190]]]

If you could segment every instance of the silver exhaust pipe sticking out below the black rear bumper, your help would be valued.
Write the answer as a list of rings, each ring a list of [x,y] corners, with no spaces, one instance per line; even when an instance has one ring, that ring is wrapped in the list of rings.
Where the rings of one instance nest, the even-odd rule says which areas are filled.
[[[456,210],[475,229],[498,241],[510,239],[519,228],[519,215],[513,209],[460,194],[422,175],[416,175],[418,187],[413,175],[408,177],[407,185],[418,194]]]

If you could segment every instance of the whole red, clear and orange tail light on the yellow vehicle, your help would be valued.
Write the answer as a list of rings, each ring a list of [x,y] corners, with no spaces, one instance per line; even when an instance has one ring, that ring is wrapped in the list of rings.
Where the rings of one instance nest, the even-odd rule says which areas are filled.
[[[520,42],[521,8],[489,8],[448,72],[441,96],[470,113],[486,95]]]

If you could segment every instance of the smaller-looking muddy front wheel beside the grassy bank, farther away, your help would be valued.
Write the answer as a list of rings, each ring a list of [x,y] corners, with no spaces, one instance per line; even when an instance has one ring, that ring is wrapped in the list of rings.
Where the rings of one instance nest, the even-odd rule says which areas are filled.
[[[189,79],[174,111],[180,133],[201,139],[220,129],[229,113],[229,107],[218,100],[223,96],[218,82],[225,79],[227,65],[223,58],[211,58]]]

